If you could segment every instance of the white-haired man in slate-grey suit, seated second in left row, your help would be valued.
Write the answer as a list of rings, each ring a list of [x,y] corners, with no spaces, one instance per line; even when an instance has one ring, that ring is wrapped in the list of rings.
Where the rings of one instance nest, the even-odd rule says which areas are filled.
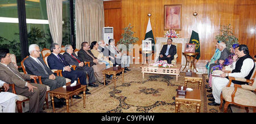
[[[66,79],[61,76],[55,76],[47,67],[46,63],[44,63],[43,59],[40,57],[41,52],[38,45],[31,44],[28,47],[28,52],[30,53],[30,57],[24,61],[27,74],[41,76],[42,83],[48,85],[51,91],[66,85]],[[57,99],[57,97],[54,97],[54,106],[61,108],[63,105],[66,105],[64,100],[65,99]]]

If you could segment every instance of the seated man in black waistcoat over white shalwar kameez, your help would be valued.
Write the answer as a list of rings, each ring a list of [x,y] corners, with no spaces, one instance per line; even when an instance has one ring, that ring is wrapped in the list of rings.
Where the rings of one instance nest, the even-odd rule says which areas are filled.
[[[235,78],[245,78],[250,79],[251,74],[254,70],[254,61],[249,55],[249,50],[246,45],[240,45],[236,48],[236,55],[238,56],[238,60],[233,63],[234,67],[231,73],[224,72],[221,74],[221,77],[214,76],[212,78],[212,95],[214,97],[214,101],[208,103],[209,105],[220,105],[220,95],[222,88],[224,88],[228,83],[229,79],[227,76],[233,76]],[[232,81],[231,87],[236,84],[246,84],[245,82]]]

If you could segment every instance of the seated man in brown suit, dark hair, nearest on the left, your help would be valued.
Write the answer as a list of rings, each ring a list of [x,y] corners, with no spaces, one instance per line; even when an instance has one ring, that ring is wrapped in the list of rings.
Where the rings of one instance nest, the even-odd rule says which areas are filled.
[[[29,112],[42,112],[46,99],[46,85],[28,83],[25,80],[37,78],[35,75],[22,74],[11,62],[9,49],[0,49],[0,80],[9,84],[15,84],[17,95],[26,96],[29,101]],[[11,92],[12,88],[8,92]]]

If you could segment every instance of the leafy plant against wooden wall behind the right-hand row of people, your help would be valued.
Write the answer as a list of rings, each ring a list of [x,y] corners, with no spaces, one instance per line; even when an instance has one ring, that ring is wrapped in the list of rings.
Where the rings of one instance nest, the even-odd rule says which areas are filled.
[[[233,44],[239,44],[237,37],[233,35],[231,24],[229,24],[227,26],[222,25],[222,29],[220,29],[219,31],[222,32],[222,34],[217,35],[215,37],[215,39],[217,41],[225,42],[226,48],[228,50],[230,50],[230,48],[232,48]]]

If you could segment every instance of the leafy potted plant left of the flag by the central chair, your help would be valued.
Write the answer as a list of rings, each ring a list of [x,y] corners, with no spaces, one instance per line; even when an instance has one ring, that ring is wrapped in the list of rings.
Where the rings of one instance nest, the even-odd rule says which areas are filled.
[[[123,28],[123,30],[125,30],[123,33],[122,33],[122,39],[120,39],[117,44],[123,44],[126,46],[126,49],[124,49],[123,47],[120,48],[122,52],[124,53],[127,53],[127,49],[129,50],[129,44],[134,44],[135,42],[137,42],[139,39],[138,37],[133,37],[133,34],[135,32],[131,31],[131,28],[133,28],[131,26],[131,23],[129,23],[128,27],[126,28]],[[126,50],[126,51],[123,51],[123,50]]]

